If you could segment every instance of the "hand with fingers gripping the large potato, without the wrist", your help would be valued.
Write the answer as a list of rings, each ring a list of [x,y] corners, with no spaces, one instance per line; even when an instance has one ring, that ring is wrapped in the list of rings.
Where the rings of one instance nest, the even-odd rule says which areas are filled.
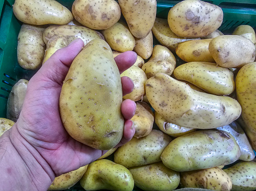
[[[29,80],[20,117],[16,123],[19,134],[43,157],[56,176],[78,169],[100,156],[105,151],[95,150],[77,142],[67,134],[59,114],[61,86],[74,57],[81,51],[83,41],[73,41],[68,47],[58,50]],[[136,61],[135,52],[126,52],[115,57],[120,73]],[[133,81],[122,77],[123,95],[133,90]],[[136,104],[130,99],[123,101],[121,112],[125,118],[123,138],[118,146],[127,143],[135,129],[130,120]]]

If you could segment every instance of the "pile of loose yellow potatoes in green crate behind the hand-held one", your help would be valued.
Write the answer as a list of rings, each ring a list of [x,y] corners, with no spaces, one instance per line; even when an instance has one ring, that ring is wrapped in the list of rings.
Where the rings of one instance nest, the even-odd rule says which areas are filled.
[[[121,74],[134,81],[134,90],[119,95],[136,102],[135,136],[119,148],[111,145],[105,156],[84,167],[83,176],[72,172],[56,178],[49,190],[78,181],[86,190],[256,189],[251,26],[223,34],[218,30],[221,7],[200,0],[177,3],[166,19],[157,17],[156,0],[75,0],[71,10],[54,0],[15,0],[13,12],[23,22],[17,54],[24,69],[40,68],[76,38],[84,45],[105,40],[113,57],[126,51],[138,55]],[[98,141],[86,139],[91,145]]]

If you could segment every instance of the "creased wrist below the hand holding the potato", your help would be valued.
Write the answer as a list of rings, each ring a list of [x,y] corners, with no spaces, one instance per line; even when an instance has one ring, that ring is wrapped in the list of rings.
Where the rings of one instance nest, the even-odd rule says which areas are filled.
[[[21,136],[17,123],[0,137],[3,190],[47,190],[55,178],[50,165]]]

